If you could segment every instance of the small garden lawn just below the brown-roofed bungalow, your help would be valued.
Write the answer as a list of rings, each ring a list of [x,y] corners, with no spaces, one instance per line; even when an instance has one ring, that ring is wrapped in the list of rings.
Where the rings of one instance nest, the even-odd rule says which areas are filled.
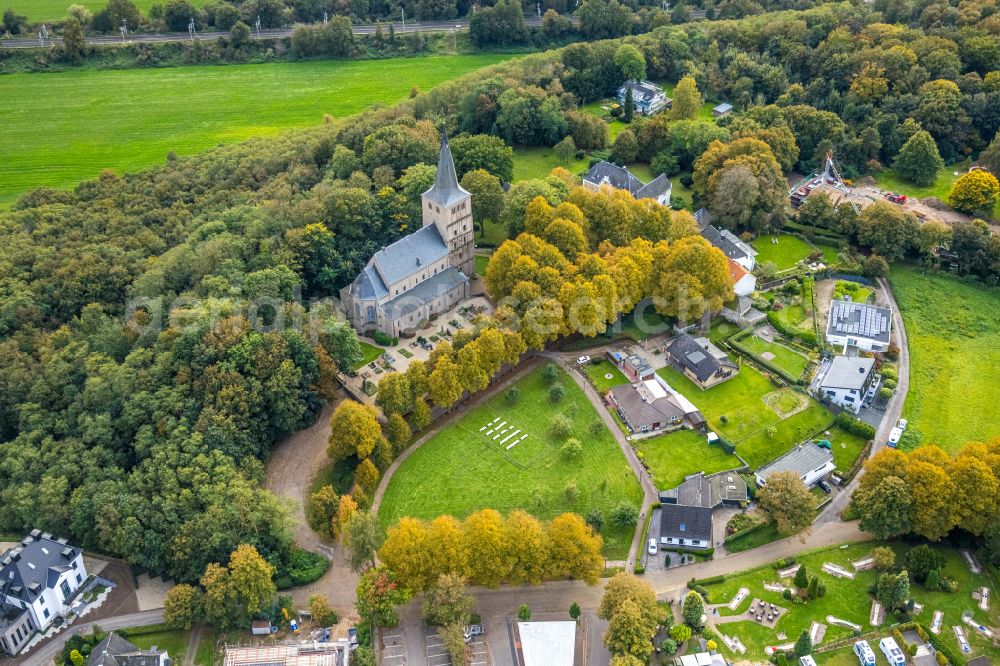
[[[694,430],[640,439],[635,446],[649,465],[656,487],[663,490],[676,488],[685,476],[695,472],[714,474],[742,464],[722,448],[709,446],[705,436]]]

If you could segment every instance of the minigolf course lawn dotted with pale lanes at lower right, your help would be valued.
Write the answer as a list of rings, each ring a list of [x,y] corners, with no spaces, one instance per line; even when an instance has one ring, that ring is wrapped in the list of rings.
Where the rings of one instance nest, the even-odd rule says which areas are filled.
[[[798,557],[797,561],[806,567],[806,571],[810,575],[818,575],[820,582],[826,585],[827,588],[825,596],[804,604],[793,604],[790,601],[782,599],[781,594],[764,589],[764,583],[777,582],[777,573],[771,565],[727,576],[723,583],[706,586],[711,603],[724,603],[732,599],[739,588],[746,587],[750,590],[749,598],[757,597],[789,609],[788,613],[778,621],[777,627],[773,630],[755,622],[736,622],[719,625],[727,635],[738,636],[747,646],[747,654],[739,658],[765,661],[764,647],[786,642],[777,639],[778,632],[782,632],[788,636],[787,642],[794,642],[802,630],[809,629],[813,620],[827,625],[824,642],[833,642],[851,636],[850,629],[828,623],[826,621],[827,615],[834,615],[838,618],[855,622],[864,628],[863,631],[870,631],[872,627],[868,620],[871,610],[871,597],[868,595],[868,587],[878,578],[878,572],[874,569],[860,571],[857,572],[857,577],[854,580],[849,580],[835,578],[821,571],[821,568],[825,562],[831,562],[839,564],[849,571],[853,571],[850,563],[853,560],[867,556],[871,549],[877,545],[884,544],[878,542],[851,544],[847,548],[829,548]],[[896,550],[897,563],[901,561],[902,555],[909,548],[908,545],[898,543],[890,543],[888,545]],[[911,583],[910,590],[913,598],[917,602],[924,604],[923,612],[915,616],[915,619],[925,626],[929,626],[934,611],[943,611],[944,623],[940,634],[941,638],[945,641],[950,641],[957,649],[957,643],[955,642],[951,627],[961,622],[963,611],[974,611],[977,620],[996,626],[998,621],[1000,621],[1000,609],[995,604],[990,604],[989,612],[980,610],[972,600],[971,593],[973,589],[984,585],[992,587],[987,577],[985,575],[973,576],[958,551],[944,547],[938,548],[938,550],[946,557],[946,564],[942,573],[954,578],[958,582],[959,589],[955,593],[928,592],[921,584],[916,582]],[[991,594],[991,596],[993,595]],[[745,609],[746,603],[744,602],[741,610]],[[884,626],[891,624],[892,620],[891,617],[886,618]],[[994,661],[1000,656],[1000,648],[990,645],[975,632],[969,630],[966,631],[966,635],[969,636],[969,642],[972,644],[972,654],[969,656],[986,654]],[[721,641],[720,649],[728,650]],[[877,647],[876,652],[878,652]],[[828,663],[820,659],[817,659],[817,661],[819,663]],[[829,663],[840,664],[842,662],[835,660]],[[843,663],[846,666],[846,662]],[[856,664],[857,661],[855,660],[854,663]]]

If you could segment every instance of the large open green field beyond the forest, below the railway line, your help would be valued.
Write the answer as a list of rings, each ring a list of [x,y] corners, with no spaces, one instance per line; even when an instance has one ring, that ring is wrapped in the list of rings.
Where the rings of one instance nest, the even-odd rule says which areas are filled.
[[[103,169],[135,171],[316,125],[401,99],[512,56],[281,62],[77,70],[0,77],[0,203],[31,187],[67,188]],[[46,101],[47,100],[47,101]]]

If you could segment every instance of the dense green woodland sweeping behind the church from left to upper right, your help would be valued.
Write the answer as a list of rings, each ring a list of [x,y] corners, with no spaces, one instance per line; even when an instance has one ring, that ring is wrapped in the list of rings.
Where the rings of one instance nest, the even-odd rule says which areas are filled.
[[[830,149],[852,175],[892,163],[923,134],[944,160],[975,156],[1000,126],[995,9],[826,4],[628,38],[649,76],[691,74],[740,111],[722,131],[698,120],[633,130],[643,150],[692,168],[710,205],[721,184],[709,172],[741,167],[766,190]],[[478,205],[493,201],[480,220],[504,220],[514,236],[537,196],[552,207],[575,196],[586,209],[569,174],[497,194],[512,174],[505,142],[606,147],[606,127],[578,108],[624,80],[620,45],[528,56],[342,127],[35,190],[0,213],[0,530],[65,534],[181,580],[241,542],[272,562],[288,557],[288,516],[262,490],[262,463],[315,418],[336,369],[357,361],[353,333],[322,299],[419,224],[442,125],[462,135],[459,177],[489,194]],[[983,161],[995,168],[997,153],[994,143]],[[585,218],[614,233],[615,211],[594,206]],[[731,226],[781,221],[743,213]],[[901,238],[897,219],[870,217],[854,227],[862,245]],[[670,241],[675,222],[642,233]],[[998,243],[966,226],[975,233],[956,228],[956,241],[978,242],[981,261],[963,270],[992,279]],[[919,251],[891,246],[892,256]]]

